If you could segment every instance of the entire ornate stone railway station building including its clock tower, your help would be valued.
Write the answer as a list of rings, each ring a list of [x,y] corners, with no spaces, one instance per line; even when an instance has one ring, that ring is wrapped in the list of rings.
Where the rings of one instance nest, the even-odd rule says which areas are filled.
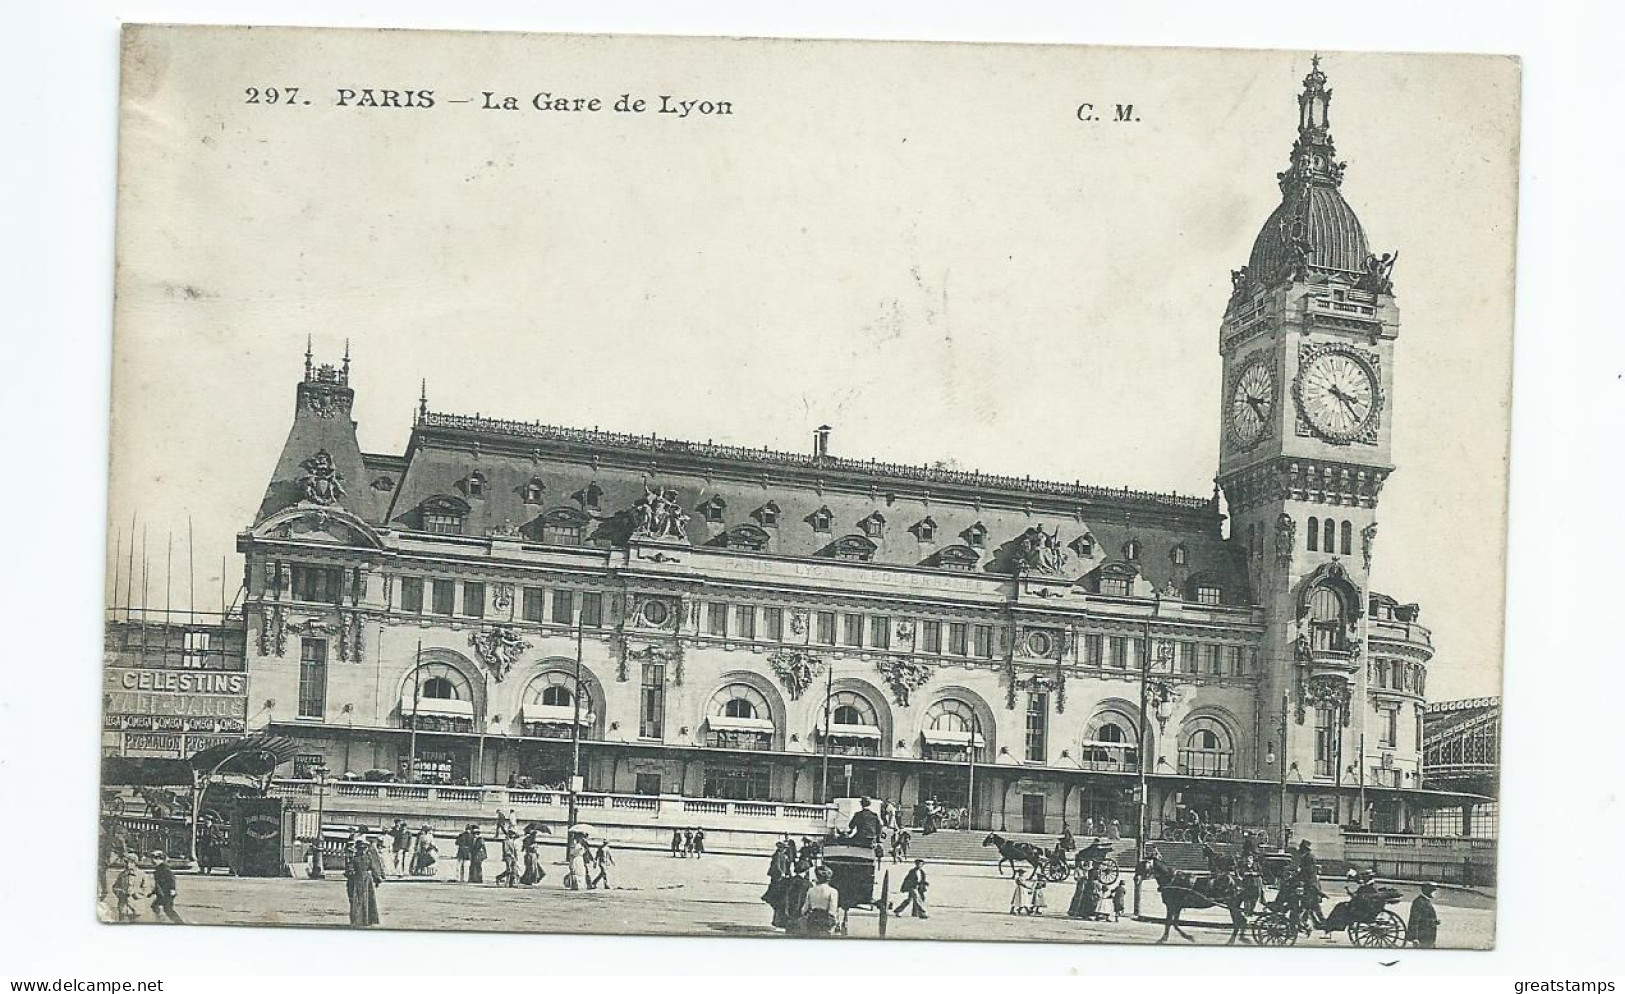
[[[552,784],[578,726],[606,793],[936,797],[977,827],[1129,833],[1144,762],[1154,830],[1399,827],[1432,645],[1367,585],[1398,310],[1323,83],[1225,310],[1222,494],[426,400],[406,452],[372,455],[348,356],[307,357],[239,536],[250,711],[335,773],[405,776],[416,749],[421,780]]]

